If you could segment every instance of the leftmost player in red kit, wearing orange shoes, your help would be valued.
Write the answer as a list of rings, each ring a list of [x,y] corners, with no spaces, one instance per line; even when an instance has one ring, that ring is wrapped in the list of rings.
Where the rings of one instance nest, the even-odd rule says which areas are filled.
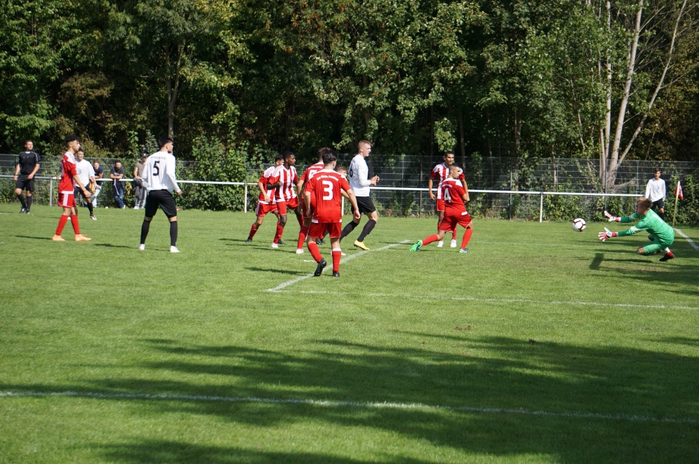
[[[82,195],[89,201],[90,193],[85,189],[85,185],[80,182],[80,176],[78,176],[78,161],[75,161],[75,153],[80,150],[80,138],[78,136],[67,136],[66,144],[68,144],[68,151],[63,154],[61,159],[61,180],[58,183],[58,203],[57,205],[63,207],[63,215],[59,219],[58,227],[56,228],[56,234],[51,238],[56,242],[65,242],[66,240],[61,236],[63,228],[68,222],[68,218],[71,218],[71,224],[73,224],[73,231],[75,231],[75,241],[76,242],[89,242],[92,238],[85,237],[80,233],[80,224],[78,224],[78,210],[75,203],[75,184],[80,186],[80,191]]]

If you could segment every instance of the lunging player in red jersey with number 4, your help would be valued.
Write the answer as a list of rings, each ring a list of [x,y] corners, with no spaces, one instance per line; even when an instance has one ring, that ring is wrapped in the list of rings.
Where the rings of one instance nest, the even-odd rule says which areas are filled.
[[[445,215],[442,222],[439,223],[439,233],[437,235],[430,235],[424,240],[418,240],[415,245],[410,248],[411,252],[417,252],[420,247],[428,245],[428,243],[435,242],[436,240],[442,240],[445,233],[450,231],[456,231],[456,225],[459,224],[466,227],[466,232],[463,233],[463,240],[461,240],[461,248],[459,248],[459,253],[468,253],[466,245],[468,245],[468,240],[471,239],[471,234],[473,234],[473,225],[471,224],[471,217],[466,211],[465,203],[468,203],[468,190],[464,189],[459,182],[459,174],[461,169],[456,164],[449,166],[449,177],[442,182],[442,198],[445,203]]]

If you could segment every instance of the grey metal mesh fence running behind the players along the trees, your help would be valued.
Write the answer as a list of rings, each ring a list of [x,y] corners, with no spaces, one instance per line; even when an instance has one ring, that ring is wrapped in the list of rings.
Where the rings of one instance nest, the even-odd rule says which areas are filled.
[[[352,154],[340,154],[338,166],[349,166]],[[99,161],[108,177],[116,159],[87,157],[91,162]],[[438,157],[390,157],[372,154],[368,157],[370,175],[380,177],[379,186],[372,189],[372,197],[382,216],[429,217],[435,212],[435,201],[426,191],[432,168],[442,159]],[[600,182],[599,160],[597,159],[514,159],[466,157],[457,159],[464,168],[470,189],[469,211],[478,217],[502,219],[572,219],[584,217],[601,219],[605,209],[619,213],[633,210],[633,197],[644,194],[647,180],[654,168],[661,168],[668,192],[674,189],[677,179],[699,168],[693,161],[624,161],[617,173],[614,192],[605,192]],[[133,173],[136,160],[122,160],[127,177]],[[12,175],[16,155],[0,154],[0,175]],[[232,210],[254,210],[257,202],[256,181],[262,171],[271,164],[248,166],[247,179],[233,184],[183,184],[184,194],[178,199],[182,205],[199,205],[194,201],[207,189],[229,189],[230,198],[238,198],[227,208]],[[301,174],[307,166],[298,164]],[[196,161],[178,160],[178,178],[193,179]],[[51,177],[59,173],[59,157],[42,157],[40,177]],[[245,185],[247,184],[247,185]],[[13,194],[11,177],[0,177],[0,201],[17,201]],[[55,189],[54,194],[55,194]],[[51,181],[36,180],[35,202],[50,204]],[[670,197],[668,197],[670,200]],[[53,200],[55,201],[55,199]],[[134,205],[131,183],[126,182],[124,201]],[[98,197],[100,206],[113,206],[110,184],[105,182]],[[345,212],[349,204],[345,203]]]

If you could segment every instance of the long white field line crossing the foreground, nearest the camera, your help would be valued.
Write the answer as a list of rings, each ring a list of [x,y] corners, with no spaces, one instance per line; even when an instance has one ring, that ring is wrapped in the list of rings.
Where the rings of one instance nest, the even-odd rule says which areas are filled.
[[[699,423],[698,419],[686,417],[659,418],[654,416],[642,416],[637,414],[601,414],[598,412],[551,412],[533,411],[524,408],[506,407],[473,407],[473,406],[435,406],[423,405],[421,403],[388,403],[388,402],[366,402],[359,401],[332,401],[332,400],[310,400],[296,398],[257,398],[254,396],[206,396],[206,395],[168,395],[150,393],[96,393],[81,391],[0,391],[0,398],[50,398],[50,397],[73,397],[73,398],[97,398],[104,400],[185,400],[185,401],[220,401],[224,403],[272,403],[281,405],[311,405],[326,407],[359,407],[366,409],[426,409],[442,410],[454,412],[484,412],[493,414],[524,414],[527,416],[553,416],[570,417],[574,419],[612,419],[621,421],[650,421],[668,423]]]

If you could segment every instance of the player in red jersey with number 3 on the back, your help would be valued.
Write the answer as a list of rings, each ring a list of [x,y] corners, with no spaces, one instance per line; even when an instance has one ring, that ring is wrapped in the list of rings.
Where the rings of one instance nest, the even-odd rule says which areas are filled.
[[[347,179],[342,175],[333,171],[338,161],[338,154],[335,150],[327,150],[323,153],[324,168],[318,171],[308,181],[303,201],[306,205],[306,210],[310,210],[311,196],[315,195],[315,208],[313,209],[313,219],[308,231],[308,251],[313,256],[313,259],[318,263],[315,268],[316,276],[323,273],[323,268],[328,263],[323,259],[318,249],[317,241],[322,238],[325,233],[330,235],[330,244],[333,249],[333,277],[340,277],[340,259],[342,250],[340,249],[340,235],[342,235],[343,212],[340,208],[342,194],[347,192],[350,203],[354,207],[354,219],[360,219],[361,213],[356,204],[354,191],[349,188]]]

